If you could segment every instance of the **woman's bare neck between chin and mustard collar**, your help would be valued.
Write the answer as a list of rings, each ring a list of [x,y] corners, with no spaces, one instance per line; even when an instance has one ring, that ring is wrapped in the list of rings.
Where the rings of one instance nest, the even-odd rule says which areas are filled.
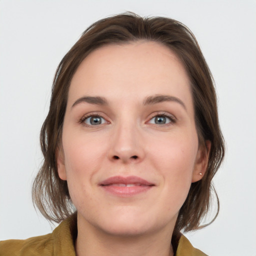
[[[116,235],[102,231],[77,217],[77,256],[173,256],[172,230],[136,235]]]

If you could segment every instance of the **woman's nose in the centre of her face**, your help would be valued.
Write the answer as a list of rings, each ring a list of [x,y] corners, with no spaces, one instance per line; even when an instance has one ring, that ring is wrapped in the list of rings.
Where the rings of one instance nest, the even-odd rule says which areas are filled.
[[[116,125],[110,138],[109,158],[122,163],[140,162],[145,155],[141,132],[134,123]]]

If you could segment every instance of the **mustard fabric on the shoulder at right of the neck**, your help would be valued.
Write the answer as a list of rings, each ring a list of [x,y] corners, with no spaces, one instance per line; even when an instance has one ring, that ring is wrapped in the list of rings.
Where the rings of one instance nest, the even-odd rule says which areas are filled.
[[[189,240],[181,235],[178,241],[176,256],[207,256],[202,251],[194,248]]]

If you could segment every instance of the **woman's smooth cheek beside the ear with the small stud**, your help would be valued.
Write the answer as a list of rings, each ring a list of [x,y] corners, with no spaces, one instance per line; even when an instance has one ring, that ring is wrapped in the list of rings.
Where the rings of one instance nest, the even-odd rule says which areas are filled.
[[[151,151],[154,168],[161,173],[169,196],[176,194],[185,199],[191,185],[197,141],[177,136],[161,142]]]

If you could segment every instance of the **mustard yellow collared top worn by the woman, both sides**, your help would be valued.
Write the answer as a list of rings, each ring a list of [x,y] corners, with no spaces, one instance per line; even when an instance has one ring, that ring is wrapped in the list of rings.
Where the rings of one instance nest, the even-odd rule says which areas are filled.
[[[76,217],[62,221],[52,233],[25,240],[0,241],[0,256],[75,256]],[[175,256],[207,256],[181,235]]]

